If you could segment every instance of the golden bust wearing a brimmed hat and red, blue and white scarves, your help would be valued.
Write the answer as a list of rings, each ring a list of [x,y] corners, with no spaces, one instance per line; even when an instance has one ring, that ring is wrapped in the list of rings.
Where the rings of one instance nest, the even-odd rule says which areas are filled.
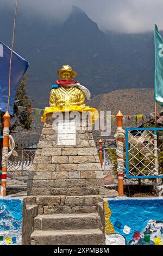
[[[53,84],[49,97],[49,106],[85,106],[85,97],[90,99],[90,91],[79,82],[73,80],[77,72],[71,66],[64,65],[58,70],[60,80]]]

